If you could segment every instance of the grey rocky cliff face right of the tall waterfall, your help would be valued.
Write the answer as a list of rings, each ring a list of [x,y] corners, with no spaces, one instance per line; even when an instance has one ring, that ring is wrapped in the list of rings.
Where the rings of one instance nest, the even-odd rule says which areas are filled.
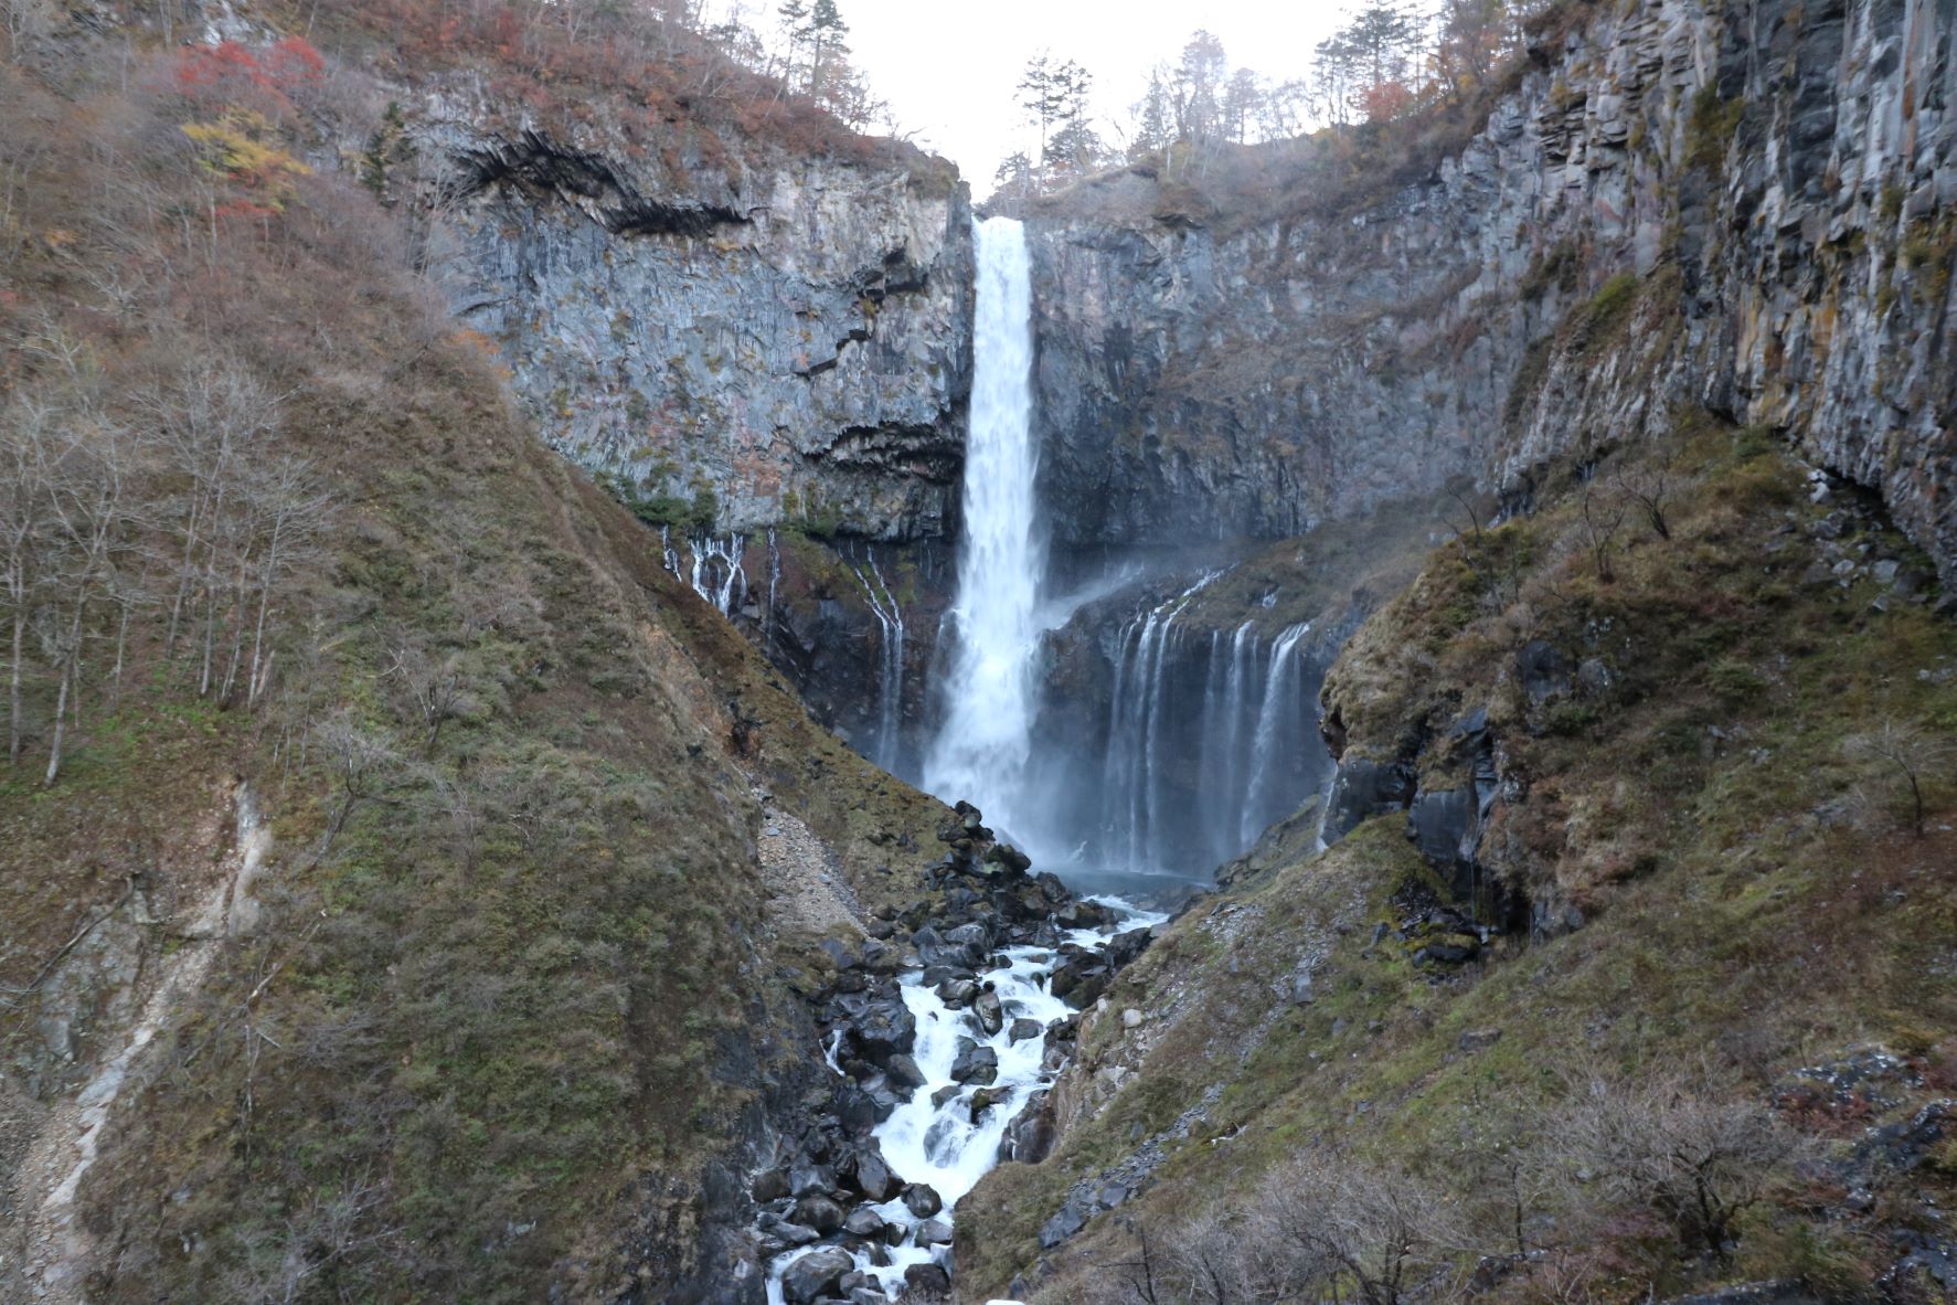
[[[1947,571],[1953,16],[1626,0],[1389,194],[1063,198],[1033,239],[1055,528],[1276,536],[1456,473],[1526,495],[1697,401],[1881,489]],[[1663,331],[1573,338],[1626,274],[1677,278]]]

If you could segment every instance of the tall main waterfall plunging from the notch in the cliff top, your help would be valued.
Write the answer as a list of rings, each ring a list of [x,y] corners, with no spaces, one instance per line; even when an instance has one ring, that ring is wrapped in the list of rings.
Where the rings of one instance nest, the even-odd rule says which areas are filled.
[[[1010,828],[1037,708],[1039,581],[1033,520],[1033,290],[1025,231],[1008,217],[977,229],[971,436],[965,446],[965,540],[951,610],[943,726],[924,787],[967,798]]]

